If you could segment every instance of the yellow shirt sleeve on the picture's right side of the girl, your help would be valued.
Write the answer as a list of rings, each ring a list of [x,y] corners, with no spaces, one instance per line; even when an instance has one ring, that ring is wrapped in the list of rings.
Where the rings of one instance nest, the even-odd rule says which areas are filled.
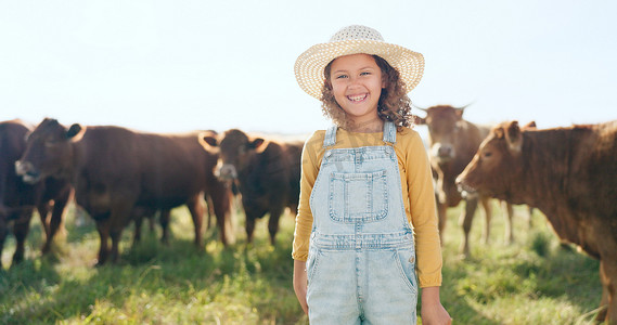
[[[433,174],[420,134],[412,132],[406,169],[420,287],[441,285],[441,243]]]

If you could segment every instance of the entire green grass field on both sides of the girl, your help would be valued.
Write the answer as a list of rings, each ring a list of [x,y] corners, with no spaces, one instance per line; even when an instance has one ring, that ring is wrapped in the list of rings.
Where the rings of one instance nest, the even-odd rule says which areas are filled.
[[[449,210],[441,301],[454,324],[591,324],[602,292],[597,261],[562,248],[539,212],[529,230],[516,211],[515,244],[504,244],[501,216],[493,217],[490,244],[480,244],[478,214],[473,257],[462,259],[460,209]],[[158,230],[144,229],[131,249],[131,227],[121,262],[103,268],[92,266],[99,247],[93,224],[75,225],[70,212],[67,235],[41,258],[34,218],[26,261],[0,271],[0,324],[308,324],[292,289],[293,217],[282,217],[275,247],[265,220],[246,247],[242,214],[236,217],[235,245],[223,248],[210,230],[198,251],[188,210],[178,208],[168,246],[158,243]],[[5,266],[13,249],[10,237]]]

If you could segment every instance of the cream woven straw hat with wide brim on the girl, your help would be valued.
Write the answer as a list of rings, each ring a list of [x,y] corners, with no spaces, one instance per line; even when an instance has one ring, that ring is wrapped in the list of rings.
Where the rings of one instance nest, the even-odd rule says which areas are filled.
[[[325,66],[334,58],[350,54],[378,55],[396,68],[411,91],[424,72],[424,56],[397,44],[386,43],[382,35],[370,27],[352,25],[340,29],[327,43],[320,43],[305,51],[296,60],[294,72],[300,88],[316,99],[321,99]]]

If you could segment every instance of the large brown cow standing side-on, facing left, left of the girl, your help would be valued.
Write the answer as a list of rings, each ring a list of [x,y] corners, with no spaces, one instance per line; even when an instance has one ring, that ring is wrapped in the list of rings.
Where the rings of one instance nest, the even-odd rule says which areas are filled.
[[[227,245],[230,191],[214,176],[218,157],[202,148],[198,133],[156,134],[79,123],[66,128],[46,118],[28,136],[16,169],[28,183],[55,177],[74,185],[77,204],[94,219],[100,235],[97,265],[118,261],[121,232],[133,219],[139,223],[160,210],[166,238],[169,210],[180,205],[188,206],[195,246],[203,248],[202,195],[214,203]]]

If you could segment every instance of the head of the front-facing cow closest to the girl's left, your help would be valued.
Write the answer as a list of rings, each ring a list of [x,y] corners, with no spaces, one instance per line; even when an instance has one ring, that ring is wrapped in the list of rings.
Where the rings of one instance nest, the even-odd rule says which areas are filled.
[[[221,180],[236,179],[240,172],[249,167],[252,157],[267,146],[263,139],[249,139],[237,129],[228,130],[218,139],[204,135],[201,141],[206,150],[218,151],[219,160],[215,174]]]

